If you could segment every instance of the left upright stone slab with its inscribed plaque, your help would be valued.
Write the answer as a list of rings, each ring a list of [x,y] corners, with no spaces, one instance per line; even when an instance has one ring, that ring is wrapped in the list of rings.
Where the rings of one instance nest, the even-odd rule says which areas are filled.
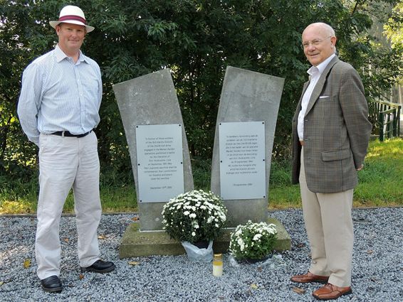
[[[135,178],[140,230],[162,230],[162,207],[193,190],[192,166],[169,69],[113,85]]]

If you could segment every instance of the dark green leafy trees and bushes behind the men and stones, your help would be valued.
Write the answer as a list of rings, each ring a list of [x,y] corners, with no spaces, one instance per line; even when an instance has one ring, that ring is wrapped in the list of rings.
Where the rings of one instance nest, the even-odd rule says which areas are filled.
[[[56,20],[66,4],[70,1],[0,0],[0,175],[10,181],[36,177],[38,150],[21,131],[16,102],[23,69],[56,44],[48,21]],[[387,48],[368,33],[374,15],[387,21],[391,39],[401,31],[399,1],[80,0],[75,4],[95,26],[85,38],[83,52],[99,63],[103,74],[96,133],[101,178],[107,183],[132,182],[125,132],[112,92],[118,82],[170,68],[191,156],[205,161],[211,158],[226,66],[285,77],[273,156],[287,161],[293,111],[308,79],[300,34],[309,23],[325,21],[335,28],[340,57],[360,72],[369,98],[387,94],[402,78],[401,43]],[[395,4],[393,12],[387,9]]]

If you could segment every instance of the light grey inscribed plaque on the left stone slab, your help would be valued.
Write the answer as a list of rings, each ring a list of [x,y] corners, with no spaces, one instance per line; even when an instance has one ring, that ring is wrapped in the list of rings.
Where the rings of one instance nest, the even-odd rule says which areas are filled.
[[[136,140],[140,203],[184,193],[182,125],[137,125]]]

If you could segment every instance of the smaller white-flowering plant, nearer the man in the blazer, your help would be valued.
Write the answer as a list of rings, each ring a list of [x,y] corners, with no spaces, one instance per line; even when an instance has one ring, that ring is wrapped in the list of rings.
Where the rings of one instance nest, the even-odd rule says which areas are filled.
[[[276,239],[276,225],[248,220],[231,233],[229,250],[237,260],[261,261],[273,251]]]

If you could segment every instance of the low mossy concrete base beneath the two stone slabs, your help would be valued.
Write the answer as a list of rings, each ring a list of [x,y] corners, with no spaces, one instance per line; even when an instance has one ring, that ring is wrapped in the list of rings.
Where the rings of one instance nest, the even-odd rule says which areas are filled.
[[[291,237],[275,218],[268,218],[268,223],[276,225],[278,239],[274,246],[276,251],[291,249]],[[221,236],[214,240],[214,253],[226,253],[229,249],[229,236],[234,228],[225,229]],[[164,231],[140,232],[140,225],[135,222],[127,227],[119,247],[119,257],[145,257],[151,255],[180,255],[184,248],[177,240],[170,239]]]

